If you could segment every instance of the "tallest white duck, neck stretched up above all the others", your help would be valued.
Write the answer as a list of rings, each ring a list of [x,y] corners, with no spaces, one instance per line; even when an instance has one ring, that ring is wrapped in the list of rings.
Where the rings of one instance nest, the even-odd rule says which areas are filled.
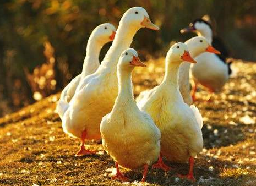
[[[63,104],[62,127],[70,136],[81,138],[78,156],[92,154],[85,150],[85,139],[100,139],[100,122],[109,113],[118,93],[116,68],[119,56],[129,48],[133,36],[140,28],[159,30],[151,23],[144,8],[133,7],[124,13],[115,39],[100,67],[94,74],[81,80],[69,104]]]

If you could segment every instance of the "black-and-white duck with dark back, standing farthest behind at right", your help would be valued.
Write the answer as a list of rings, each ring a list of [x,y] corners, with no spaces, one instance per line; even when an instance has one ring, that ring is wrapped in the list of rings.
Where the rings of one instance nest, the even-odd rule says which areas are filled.
[[[189,24],[188,28],[181,30],[182,33],[189,31],[196,32],[198,36],[204,36],[210,45],[213,44],[221,52],[221,55],[208,52],[202,53],[195,58],[198,63],[192,66],[192,77],[195,83],[192,87],[193,99],[195,99],[194,93],[197,89],[197,84],[200,83],[209,90],[209,100],[211,93],[220,91],[231,74],[231,63],[226,63],[228,52],[221,41],[213,37],[213,30],[208,21],[196,19]]]

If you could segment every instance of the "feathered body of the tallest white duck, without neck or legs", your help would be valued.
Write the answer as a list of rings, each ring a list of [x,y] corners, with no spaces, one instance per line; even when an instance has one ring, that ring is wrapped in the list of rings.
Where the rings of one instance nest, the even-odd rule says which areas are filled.
[[[118,92],[116,75],[104,72],[87,76],[75,93],[64,114],[62,127],[71,136],[80,137],[86,130],[86,139],[100,139],[100,122],[112,110]],[[108,80],[111,79],[111,81]]]

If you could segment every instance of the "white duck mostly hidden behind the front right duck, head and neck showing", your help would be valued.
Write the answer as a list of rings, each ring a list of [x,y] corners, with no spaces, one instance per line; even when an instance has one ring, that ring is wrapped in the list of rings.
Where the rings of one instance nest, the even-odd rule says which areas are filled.
[[[199,54],[203,52],[219,53],[219,51],[217,51],[213,46],[211,46],[209,42],[205,39],[205,37],[202,36],[192,37],[185,43],[188,46],[188,50],[192,58],[197,57]],[[183,62],[181,64],[181,67],[179,67],[179,91],[181,91],[181,95],[183,97],[184,102],[188,105],[193,104],[189,84],[190,64],[191,63]]]

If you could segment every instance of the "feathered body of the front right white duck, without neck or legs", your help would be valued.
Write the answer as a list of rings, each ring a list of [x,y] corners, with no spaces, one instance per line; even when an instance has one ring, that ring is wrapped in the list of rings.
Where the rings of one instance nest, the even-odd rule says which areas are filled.
[[[159,85],[146,99],[138,106],[150,114],[161,130],[162,155],[169,161],[187,162],[189,156],[203,149],[201,114],[196,107],[183,102],[178,90]]]

